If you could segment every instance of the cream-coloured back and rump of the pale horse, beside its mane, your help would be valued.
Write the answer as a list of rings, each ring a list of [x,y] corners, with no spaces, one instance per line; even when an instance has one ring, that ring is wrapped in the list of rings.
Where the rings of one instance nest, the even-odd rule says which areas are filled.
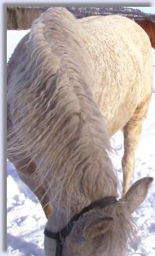
[[[87,17],[80,22],[88,32],[87,50],[95,64],[92,91],[113,134],[151,93],[149,37],[134,21],[122,16]]]

